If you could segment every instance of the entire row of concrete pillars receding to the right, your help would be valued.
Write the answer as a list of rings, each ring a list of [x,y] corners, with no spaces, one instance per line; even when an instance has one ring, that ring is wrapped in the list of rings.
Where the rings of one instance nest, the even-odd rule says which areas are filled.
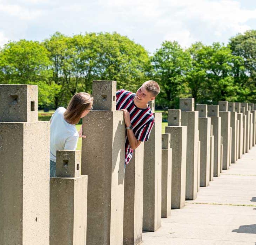
[[[195,200],[256,144],[256,105],[196,105],[154,112],[149,140],[124,169],[123,112],[115,81],[94,81],[82,151],[57,151],[49,180],[49,122],[38,121],[38,88],[0,85],[0,244],[139,244],[171,209]],[[31,109],[33,105],[33,110]],[[49,184],[50,183],[50,184]]]

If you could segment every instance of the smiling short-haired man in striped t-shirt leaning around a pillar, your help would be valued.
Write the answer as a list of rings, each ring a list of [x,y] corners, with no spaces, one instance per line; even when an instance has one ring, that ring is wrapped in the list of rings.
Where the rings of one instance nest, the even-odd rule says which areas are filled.
[[[124,113],[126,125],[125,165],[132,158],[133,150],[147,141],[155,118],[148,105],[160,92],[157,82],[144,82],[136,93],[121,89],[116,92],[116,110]]]

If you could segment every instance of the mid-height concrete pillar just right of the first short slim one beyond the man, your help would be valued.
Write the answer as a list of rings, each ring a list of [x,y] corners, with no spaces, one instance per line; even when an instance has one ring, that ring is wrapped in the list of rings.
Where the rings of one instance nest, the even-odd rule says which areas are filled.
[[[181,126],[181,110],[168,110],[168,126],[165,133],[171,135],[171,208],[180,209],[186,197],[187,127]]]

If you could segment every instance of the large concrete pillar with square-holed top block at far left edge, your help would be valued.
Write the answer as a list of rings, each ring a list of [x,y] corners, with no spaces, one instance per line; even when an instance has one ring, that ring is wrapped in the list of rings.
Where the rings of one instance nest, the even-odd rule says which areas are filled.
[[[38,86],[0,84],[0,244],[49,245],[50,123]]]

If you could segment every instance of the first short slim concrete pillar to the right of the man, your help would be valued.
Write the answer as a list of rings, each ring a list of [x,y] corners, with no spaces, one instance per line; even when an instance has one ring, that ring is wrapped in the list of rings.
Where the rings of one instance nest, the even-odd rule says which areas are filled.
[[[162,218],[171,215],[171,154],[170,134],[162,134]]]

